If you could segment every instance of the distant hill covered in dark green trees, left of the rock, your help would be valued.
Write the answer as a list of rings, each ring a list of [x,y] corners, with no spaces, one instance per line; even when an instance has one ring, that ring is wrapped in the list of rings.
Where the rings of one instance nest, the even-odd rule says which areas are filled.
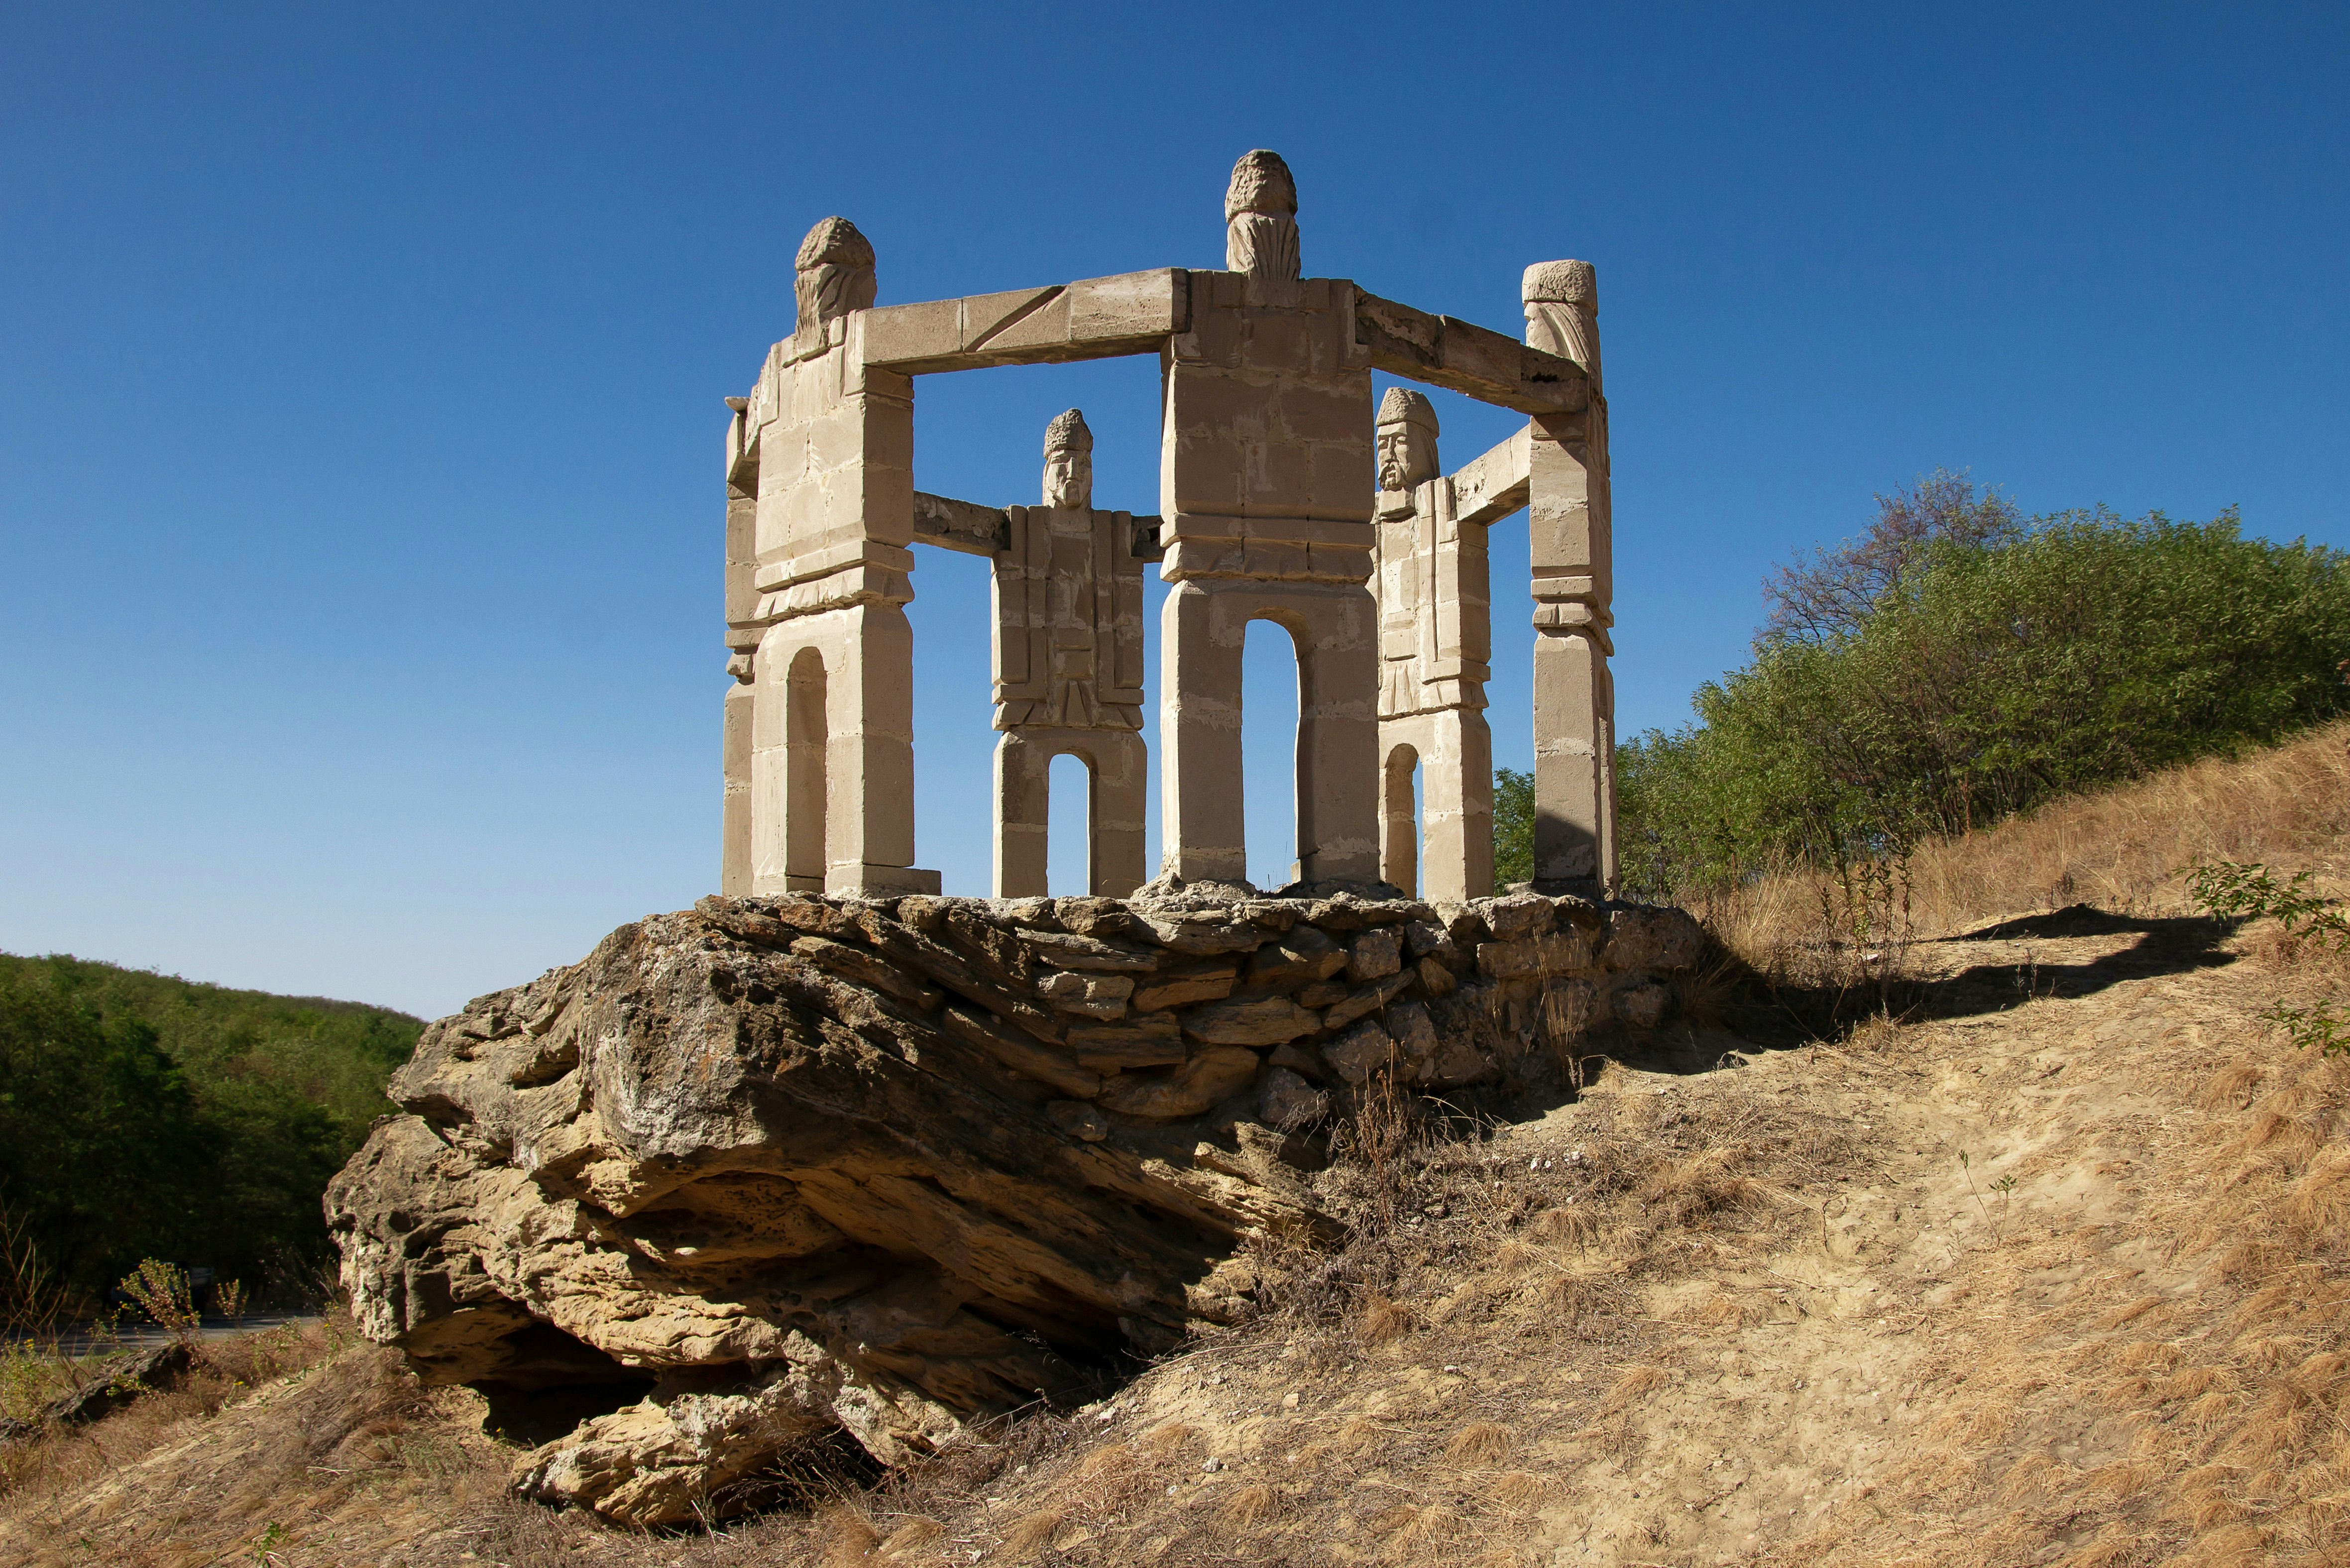
[[[75,1284],[139,1258],[298,1286],[327,1178],[390,1110],[421,1018],[0,954],[0,1206]]]

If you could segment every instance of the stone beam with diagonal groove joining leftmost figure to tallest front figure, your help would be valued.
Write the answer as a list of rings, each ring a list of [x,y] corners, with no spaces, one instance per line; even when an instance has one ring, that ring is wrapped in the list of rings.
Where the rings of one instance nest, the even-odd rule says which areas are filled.
[[[1182,268],[1086,277],[1043,289],[858,310],[865,364],[928,376],[989,364],[1065,364],[1154,355],[1191,324]]]

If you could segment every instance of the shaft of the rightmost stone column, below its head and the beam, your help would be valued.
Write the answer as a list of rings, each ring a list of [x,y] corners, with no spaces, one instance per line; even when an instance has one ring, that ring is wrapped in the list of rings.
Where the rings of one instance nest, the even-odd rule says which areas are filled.
[[[1614,585],[1586,456],[1584,416],[1532,421],[1535,882],[1598,893],[1614,879]]]

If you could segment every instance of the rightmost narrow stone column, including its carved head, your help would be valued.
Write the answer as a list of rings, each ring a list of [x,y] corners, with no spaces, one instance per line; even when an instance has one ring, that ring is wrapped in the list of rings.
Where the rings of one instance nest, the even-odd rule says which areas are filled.
[[[1598,280],[1586,261],[1525,270],[1525,341],[1591,376],[1582,414],[1537,416],[1528,463],[1535,590],[1535,882],[1614,886],[1614,564]]]

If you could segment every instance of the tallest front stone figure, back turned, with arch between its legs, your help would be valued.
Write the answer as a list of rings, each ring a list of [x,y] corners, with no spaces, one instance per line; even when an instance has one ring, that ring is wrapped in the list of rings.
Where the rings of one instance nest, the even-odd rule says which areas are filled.
[[[1370,357],[1354,284],[1300,280],[1297,190],[1246,155],[1224,197],[1227,273],[1189,275],[1191,329],[1163,369],[1163,872],[1243,882],[1241,637],[1300,658],[1297,875],[1377,882],[1377,604]]]

